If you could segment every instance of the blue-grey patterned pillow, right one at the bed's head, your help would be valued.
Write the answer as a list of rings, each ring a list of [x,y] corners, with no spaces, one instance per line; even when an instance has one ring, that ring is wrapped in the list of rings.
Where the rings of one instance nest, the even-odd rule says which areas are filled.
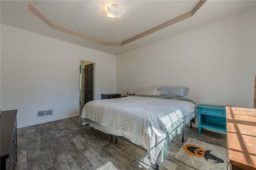
[[[161,96],[178,96],[184,97],[188,92],[188,87],[170,87],[170,86],[163,86],[161,87]]]

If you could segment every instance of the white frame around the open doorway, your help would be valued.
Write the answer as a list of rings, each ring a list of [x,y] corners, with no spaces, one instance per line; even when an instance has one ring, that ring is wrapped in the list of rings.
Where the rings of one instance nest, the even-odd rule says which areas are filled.
[[[94,70],[93,70],[93,91],[92,91],[92,93],[93,93],[93,98],[92,98],[92,100],[95,100],[95,94],[96,94],[96,86],[95,86],[95,75],[96,75],[96,69],[95,69],[95,61],[90,61],[90,60],[85,60],[85,59],[78,59],[78,69],[77,69],[77,81],[78,81],[78,86],[77,86],[77,109],[78,109],[78,115],[80,115],[80,63],[81,62],[88,62],[88,63],[92,63],[93,64],[93,68],[94,68]],[[82,70],[82,68],[81,68],[81,70]],[[81,91],[82,91],[82,87],[81,87]]]

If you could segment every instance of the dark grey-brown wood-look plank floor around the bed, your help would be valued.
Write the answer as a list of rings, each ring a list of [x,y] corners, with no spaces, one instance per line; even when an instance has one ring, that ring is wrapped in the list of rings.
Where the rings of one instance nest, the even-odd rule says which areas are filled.
[[[146,152],[118,138],[80,125],[78,117],[18,128],[18,170],[95,170],[110,161],[118,170],[149,169]],[[226,135],[185,127],[184,139],[196,138],[226,148]],[[160,170],[193,170],[174,158],[182,135],[176,135],[168,146],[169,155]]]

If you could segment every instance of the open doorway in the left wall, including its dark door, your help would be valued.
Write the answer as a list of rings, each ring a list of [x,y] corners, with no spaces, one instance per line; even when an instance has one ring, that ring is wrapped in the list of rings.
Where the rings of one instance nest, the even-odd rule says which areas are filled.
[[[80,115],[84,105],[94,100],[94,63],[80,61]]]

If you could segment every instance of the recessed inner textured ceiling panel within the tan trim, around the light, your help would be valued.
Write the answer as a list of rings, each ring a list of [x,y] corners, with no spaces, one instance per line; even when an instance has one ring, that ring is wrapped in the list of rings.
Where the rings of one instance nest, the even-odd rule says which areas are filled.
[[[119,1],[121,18],[103,14],[111,1],[30,1],[52,23],[103,42],[122,42],[192,10],[195,1]]]

